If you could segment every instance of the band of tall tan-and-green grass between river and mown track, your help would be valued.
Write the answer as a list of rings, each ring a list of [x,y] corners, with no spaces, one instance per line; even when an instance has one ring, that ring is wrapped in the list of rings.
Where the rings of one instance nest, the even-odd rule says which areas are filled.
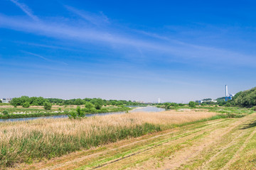
[[[166,111],[96,116],[82,120],[0,123],[0,167],[60,157],[80,149],[227,116],[202,111]]]

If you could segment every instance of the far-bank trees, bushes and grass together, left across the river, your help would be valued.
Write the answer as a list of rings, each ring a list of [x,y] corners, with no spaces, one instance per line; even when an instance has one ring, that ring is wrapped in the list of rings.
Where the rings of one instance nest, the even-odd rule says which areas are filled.
[[[75,106],[73,106],[75,104]],[[110,105],[111,104],[111,105]],[[11,106],[0,106],[0,118],[33,118],[50,115],[75,115],[76,106],[80,106],[82,115],[129,111],[125,105],[139,104],[132,101],[103,100],[101,98],[85,98],[63,100],[58,98],[42,98],[21,96],[13,98]]]

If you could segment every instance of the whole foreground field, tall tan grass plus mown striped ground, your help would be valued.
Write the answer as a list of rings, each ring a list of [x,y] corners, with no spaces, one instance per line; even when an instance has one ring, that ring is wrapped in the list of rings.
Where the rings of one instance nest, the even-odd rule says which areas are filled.
[[[256,113],[238,117],[183,110],[0,123],[0,169],[255,169]]]

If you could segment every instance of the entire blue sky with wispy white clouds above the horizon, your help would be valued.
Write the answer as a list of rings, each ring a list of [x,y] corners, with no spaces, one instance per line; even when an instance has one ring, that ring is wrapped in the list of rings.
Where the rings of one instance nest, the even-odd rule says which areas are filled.
[[[0,1],[0,97],[188,102],[255,86],[255,1]]]

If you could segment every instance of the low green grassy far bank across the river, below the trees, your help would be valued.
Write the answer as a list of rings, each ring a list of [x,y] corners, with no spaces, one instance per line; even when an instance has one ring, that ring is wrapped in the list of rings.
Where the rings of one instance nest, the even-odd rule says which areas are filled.
[[[60,107],[58,107],[60,108]],[[0,114],[0,119],[8,119],[8,118],[36,118],[36,117],[43,117],[43,116],[50,116],[50,115],[69,115],[71,111],[75,111],[76,108],[62,108],[63,111],[58,111],[57,109],[52,109],[50,111],[46,111],[41,108],[0,108],[0,112],[7,111],[9,114]],[[110,113],[110,112],[119,112],[119,111],[130,111],[131,108],[127,107],[114,107],[108,106],[97,109],[91,109],[85,111],[85,114],[97,114],[97,113]]]

